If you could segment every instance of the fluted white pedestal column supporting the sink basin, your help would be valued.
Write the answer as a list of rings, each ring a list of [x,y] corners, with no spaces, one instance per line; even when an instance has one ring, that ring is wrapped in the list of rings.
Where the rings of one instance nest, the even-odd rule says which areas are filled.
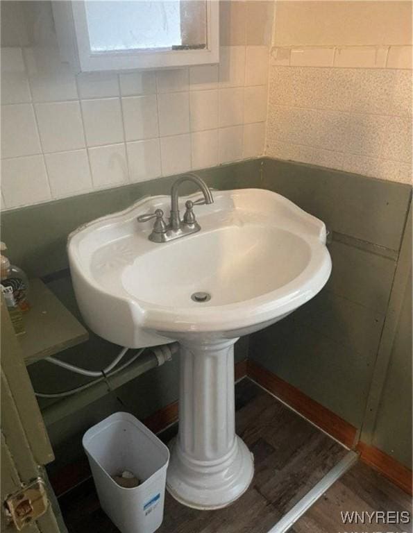
[[[236,341],[180,343],[179,433],[167,489],[196,509],[226,507],[253,478],[253,455],[235,434]]]

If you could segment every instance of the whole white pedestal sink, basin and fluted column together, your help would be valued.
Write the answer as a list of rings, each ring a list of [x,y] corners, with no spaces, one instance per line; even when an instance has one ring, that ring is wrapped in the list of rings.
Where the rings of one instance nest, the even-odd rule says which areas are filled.
[[[201,231],[150,242],[151,222],[137,216],[168,212],[169,202],[144,198],[73,232],[71,276],[97,335],[130,348],[179,341],[179,434],[167,489],[189,507],[218,509],[253,477],[253,457],[235,434],[234,344],[325,285],[326,227],[279,194],[240,189],[197,206]]]

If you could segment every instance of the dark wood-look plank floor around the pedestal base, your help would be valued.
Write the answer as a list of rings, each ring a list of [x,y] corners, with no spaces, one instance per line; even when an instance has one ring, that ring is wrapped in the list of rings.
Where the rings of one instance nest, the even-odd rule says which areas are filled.
[[[267,533],[346,455],[336,441],[251,380],[239,382],[235,396],[237,434],[255,457],[251,487],[233,505],[217,511],[189,509],[167,493],[164,521],[158,533]],[[160,437],[169,441],[175,433],[176,428],[169,428]],[[357,465],[307,511],[292,533],[343,531],[339,514],[342,505],[350,511],[362,509],[363,505],[364,510],[405,509],[408,497],[377,476],[369,468]],[[99,507],[92,480],[62,496],[59,502],[69,533],[118,531]],[[355,505],[357,509],[353,509]]]

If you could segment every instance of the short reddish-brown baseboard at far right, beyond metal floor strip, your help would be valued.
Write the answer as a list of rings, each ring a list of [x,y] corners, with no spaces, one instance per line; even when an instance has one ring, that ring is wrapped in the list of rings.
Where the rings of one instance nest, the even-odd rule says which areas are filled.
[[[362,462],[387,477],[388,480],[400,487],[407,494],[413,494],[412,471],[374,446],[359,442],[356,447]]]

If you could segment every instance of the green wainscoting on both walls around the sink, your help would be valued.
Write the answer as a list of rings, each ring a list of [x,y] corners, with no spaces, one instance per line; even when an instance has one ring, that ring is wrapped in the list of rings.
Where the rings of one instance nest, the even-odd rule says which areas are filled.
[[[410,187],[269,158],[205,169],[200,174],[217,189],[273,190],[326,222],[332,232],[333,269],[325,289],[287,319],[238,341],[236,359],[248,355],[361,429],[394,285]],[[46,276],[49,288],[81,318],[65,271],[69,232],[126,208],[145,194],[169,194],[173,181],[174,177],[158,178],[5,212],[2,240],[13,262],[30,276]],[[190,184],[183,187],[183,193],[193,190]],[[391,373],[388,379],[382,376],[382,410],[376,413],[372,441],[387,453],[394,450],[392,455],[407,464],[411,416],[406,412],[404,422],[394,421],[394,410],[407,409],[407,400],[389,400],[398,387],[401,397],[411,394],[405,340],[411,335],[410,304],[405,303],[403,310],[389,364]],[[91,333],[87,343],[65,350],[60,357],[96,369],[108,364],[118,350]],[[35,389],[43,391],[67,389],[87,380],[45,362],[33,364],[30,373]],[[123,409],[144,418],[177,398],[178,358],[52,425],[49,432],[57,459],[51,473],[82,455],[81,435],[104,416]],[[403,432],[402,426],[403,442],[396,443],[394,432]]]

